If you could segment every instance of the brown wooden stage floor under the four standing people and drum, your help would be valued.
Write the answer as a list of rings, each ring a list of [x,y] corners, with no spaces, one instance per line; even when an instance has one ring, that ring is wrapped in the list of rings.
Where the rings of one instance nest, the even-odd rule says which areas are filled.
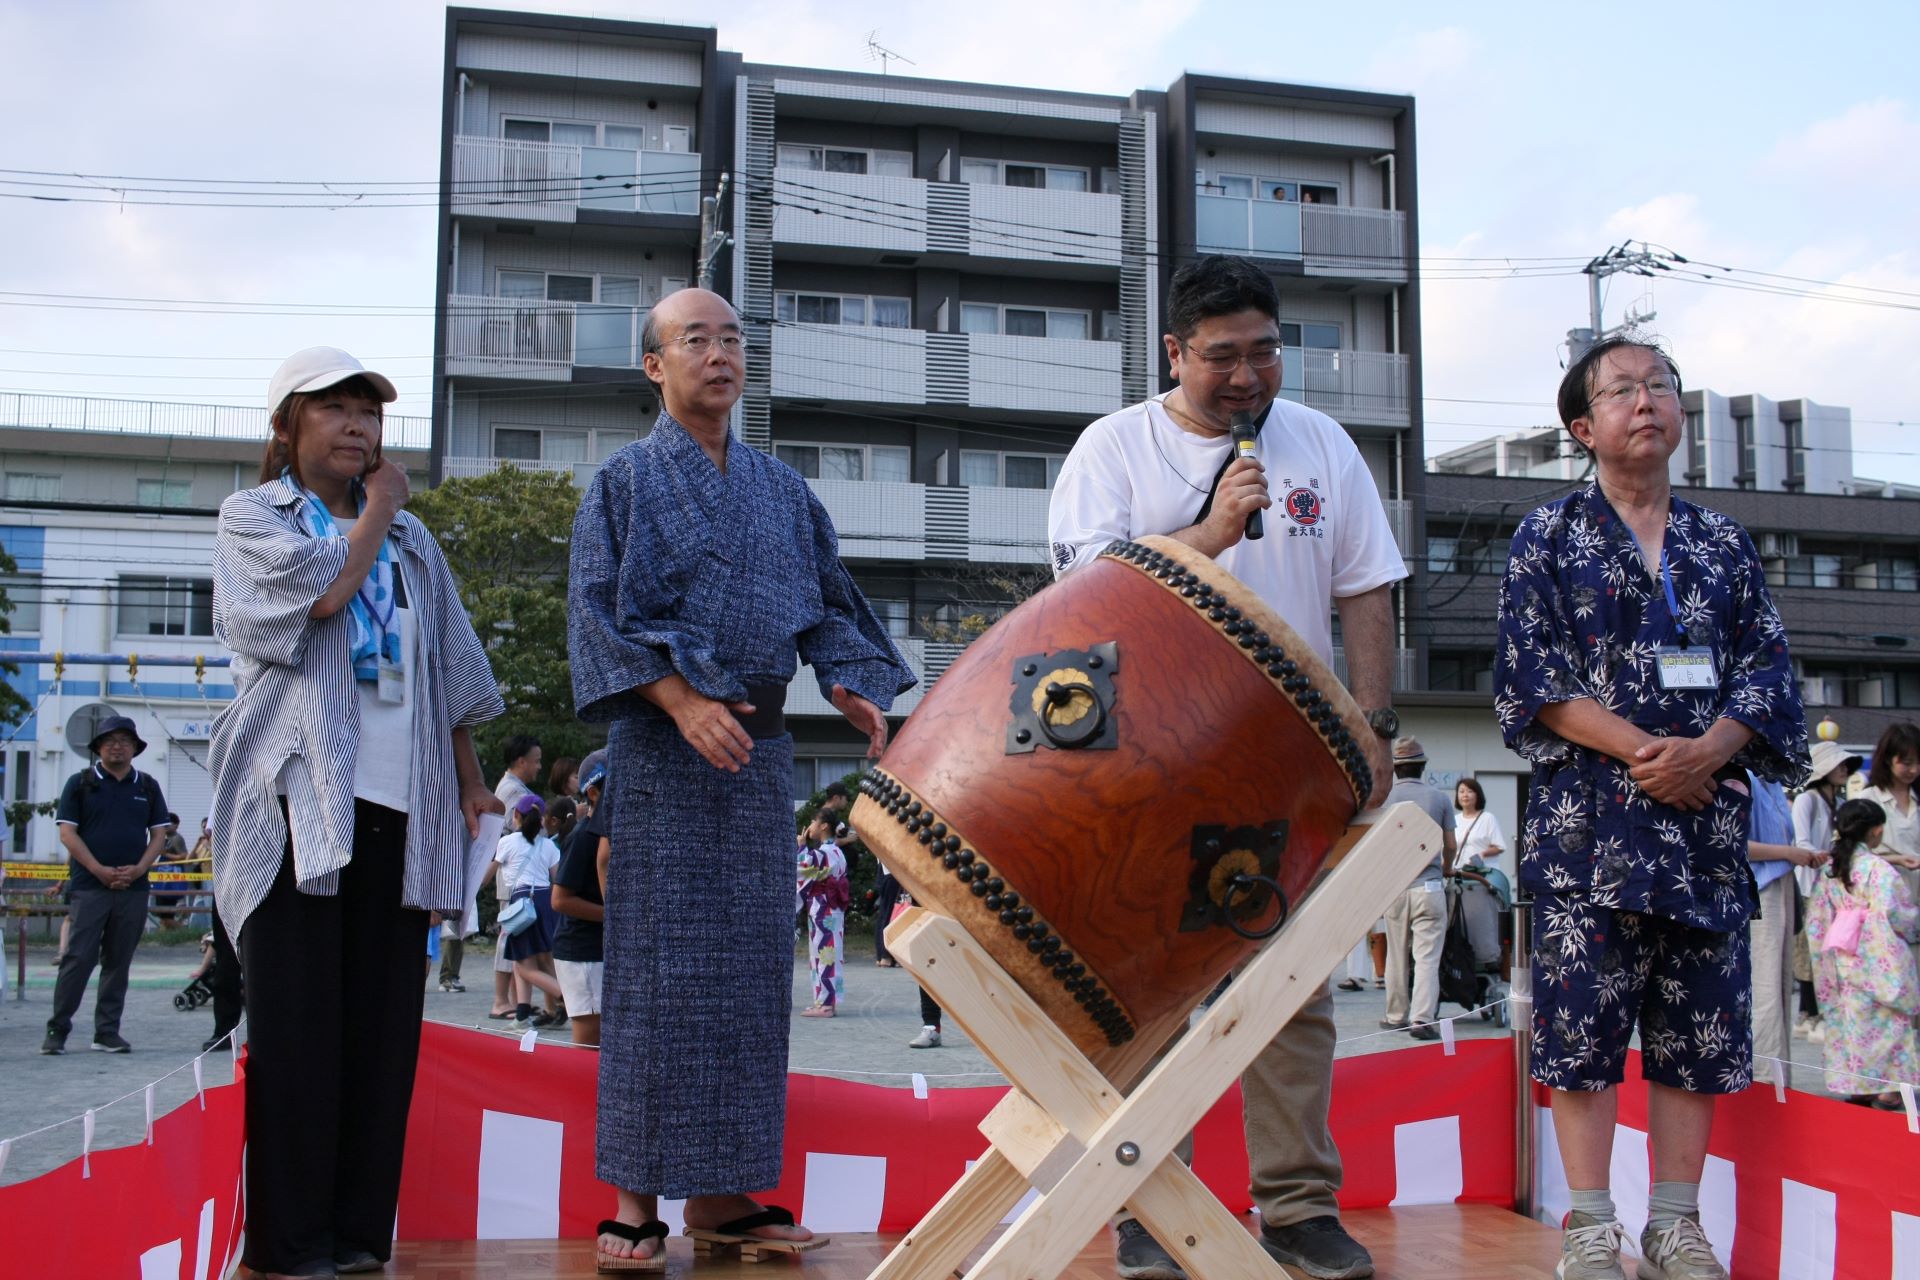
[[[1248,1215],[1252,1230],[1252,1215]],[[1342,1215],[1354,1238],[1373,1251],[1380,1280],[1538,1280],[1559,1261],[1559,1232],[1517,1213],[1490,1205],[1421,1205],[1411,1209],[1357,1209]],[[804,1261],[772,1263],[703,1261],[676,1236],[666,1245],[668,1276],[732,1280],[801,1276],[806,1280],[864,1280],[887,1257],[899,1236],[835,1234],[833,1244]],[[591,1280],[589,1240],[424,1240],[401,1242],[386,1270],[399,1280]],[[659,1276],[660,1272],[626,1272]],[[1288,1270],[1288,1276],[1300,1272]],[[1081,1249],[1060,1280],[1114,1280],[1114,1245],[1108,1232]],[[1208,1280],[1235,1280],[1208,1276]]]

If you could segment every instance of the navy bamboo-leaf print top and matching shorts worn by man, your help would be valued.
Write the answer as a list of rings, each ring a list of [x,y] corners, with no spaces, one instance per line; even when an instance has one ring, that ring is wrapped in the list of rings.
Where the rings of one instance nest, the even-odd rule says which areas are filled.
[[[1532,1075],[1553,1088],[1619,1082],[1634,1023],[1649,1080],[1695,1092],[1751,1082],[1749,796],[1740,768],[1784,785],[1807,771],[1807,725],[1786,628],[1753,541],[1672,499],[1659,570],[1597,484],[1534,510],[1500,597],[1494,712],[1532,762],[1521,883],[1534,894]],[[1713,654],[1716,683],[1665,689],[1663,647]],[[1668,808],[1630,766],[1569,743],[1542,706],[1594,699],[1655,737],[1753,729],[1711,806]]]

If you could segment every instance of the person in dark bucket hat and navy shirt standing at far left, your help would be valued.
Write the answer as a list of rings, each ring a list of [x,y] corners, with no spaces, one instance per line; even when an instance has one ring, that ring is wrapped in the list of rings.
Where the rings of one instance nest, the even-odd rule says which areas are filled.
[[[167,798],[152,775],[132,768],[132,758],[146,750],[132,720],[108,716],[86,748],[98,760],[67,779],[54,814],[69,858],[69,931],[42,1054],[67,1052],[67,1032],[96,963],[94,1048],[131,1050],[119,1034],[121,1011],[132,952],[146,931],[146,871],[167,842]]]

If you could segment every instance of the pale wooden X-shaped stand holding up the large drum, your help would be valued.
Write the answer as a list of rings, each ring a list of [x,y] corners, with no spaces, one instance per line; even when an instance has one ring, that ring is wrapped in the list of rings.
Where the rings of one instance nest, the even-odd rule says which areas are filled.
[[[902,915],[887,950],[1014,1088],[981,1121],[987,1153],[868,1280],[947,1280],[1029,1186],[1039,1196],[968,1280],[1052,1280],[1123,1205],[1194,1280],[1281,1274],[1173,1150],[1438,852],[1440,829],[1413,804],[1350,827],[1286,927],[1158,1063],[1185,1013],[1089,1059],[960,925]]]

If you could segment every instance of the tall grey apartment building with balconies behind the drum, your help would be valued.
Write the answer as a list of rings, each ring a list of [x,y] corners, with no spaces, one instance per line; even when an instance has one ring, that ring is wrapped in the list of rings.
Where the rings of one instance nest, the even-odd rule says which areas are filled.
[[[647,432],[645,309],[699,274],[749,342],[739,436],[795,466],[922,689],[1048,580],[1091,420],[1165,390],[1196,253],[1281,286],[1283,393],[1336,416],[1409,545],[1421,449],[1413,104],[1187,75],[1079,94],[764,65],[705,27],[449,10],[434,468],[578,480]],[[1402,683],[1417,681],[1405,647]],[[862,743],[812,681],[799,793]]]

